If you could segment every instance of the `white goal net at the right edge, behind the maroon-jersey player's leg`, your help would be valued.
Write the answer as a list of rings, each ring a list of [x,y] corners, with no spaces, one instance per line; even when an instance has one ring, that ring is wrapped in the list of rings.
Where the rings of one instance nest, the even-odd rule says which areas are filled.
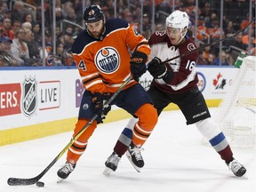
[[[256,146],[256,57],[247,56],[213,114],[232,147]]]

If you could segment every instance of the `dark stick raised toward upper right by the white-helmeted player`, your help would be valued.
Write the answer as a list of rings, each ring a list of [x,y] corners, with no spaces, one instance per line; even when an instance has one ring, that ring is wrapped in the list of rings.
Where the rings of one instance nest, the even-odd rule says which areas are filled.
[[[225,38],[216,40],[216,41],[214,41],[214,42],[212,42],[212,43],[210,43],[210,44],[204,44],[204,45],[202,45],[202,46],[200,46],[200,47],[198,47],[198,48],[196,48],[196,49],[194,49],[194,50],[191,50],[191,51],[189,51],[189,52],[183,52],[183,53],[181,53],[180,55],[173,57],[172,59],[164,60],[163,62],[161,62],[161,64],[166,63],[166,62],[169,62],[169,61],[171,61],[171,60],[176,60],[177,58],[180,58],[180,57],[187,56],[188,54],[191,54],[192,52],[197,52],[197,51],[199,51],[199,50],[204,49],[204,48],[207,47],[207,46],[211,46],[212,44],[218,44],[218,43],[220,43],[220,42],[222,42],[222,41],[226,41],[226,40],[229,39],[229,38],[233,38],[233,37],[237,36],[239,33],[241,33],[242,31],[244,31],[246,28],[248,28],[248,27],[252,24],[252,22],[253,22],[253,19],[247,24],[247,26],[245,26],[244,28],[238,30],[236,33],[234,33],[234,34],[232,34],[232,35],[230,35],[230,36],[227,36],[227,37],[225,37]],[[175,64],[173,64],[173,65],[175,65]]]

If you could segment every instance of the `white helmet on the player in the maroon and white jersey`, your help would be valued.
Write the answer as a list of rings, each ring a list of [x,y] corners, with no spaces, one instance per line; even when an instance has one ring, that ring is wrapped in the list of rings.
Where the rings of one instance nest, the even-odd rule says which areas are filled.
[[[180,12],[180,10],[176,10],[170,14],[166,20],[165,25],[169,28],[188,28],[188,14],[187,12]]]

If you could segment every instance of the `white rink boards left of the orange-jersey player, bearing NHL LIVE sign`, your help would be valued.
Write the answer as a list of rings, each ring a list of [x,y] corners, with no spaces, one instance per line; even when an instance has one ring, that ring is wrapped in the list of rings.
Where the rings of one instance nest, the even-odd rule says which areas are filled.
[[[74,118],[76,68],[0,68],[0,131]]]

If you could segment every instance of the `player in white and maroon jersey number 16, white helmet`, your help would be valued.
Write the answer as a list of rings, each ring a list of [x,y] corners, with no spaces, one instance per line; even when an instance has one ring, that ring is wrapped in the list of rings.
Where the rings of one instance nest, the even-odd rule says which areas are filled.
[[[196,44],[187,36],[188,14],[179,10],[172,12],[167,17],[165,24],[166,29],[164,31],[156,31],[148,40],[151,47],[149,56],[151,61],[148,63],[148,71],[154,77],[148,94],[153,100],[158,116],[170,103],[178,105],[187,120],[187,124],[196,124],[198,131],[209,140],[212,148],[220,155],[229,169],[237,177],[243,176],[246,172],[244,165],[233,157],[228,140],[212,120],[204,96],[196,85],[198,82],[196,74],[198,52],[169,62],[162,62],[196,49]],[[131,119],[117,140],[116,146],[127,145],[127,142],[124,143],[124,138],[126,138],[127,132],[132,132],[132,124],[136,124],[136,118]],[[136,133],[136,130],[133,132]],[[135,169],[140,172],[144,166],[141,148],[134,149],[132,143],[127,148],[126,155]]]

